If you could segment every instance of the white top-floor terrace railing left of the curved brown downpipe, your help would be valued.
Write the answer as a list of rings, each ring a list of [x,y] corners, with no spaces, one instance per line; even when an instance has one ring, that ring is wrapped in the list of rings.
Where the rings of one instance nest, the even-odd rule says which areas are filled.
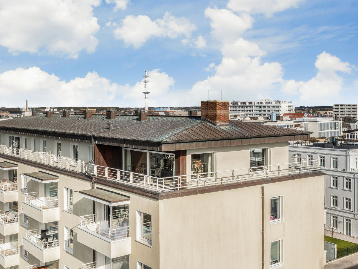
[[[63,168],[66,170],[84,173],[85,162],[74,161],[63,157],[56,157],[52,151],[34,152],[30,150],[22,150],[18,148],[6,147],[0,145],[0,153],[18,157],[29,161],[38,162],[40,164],[47,164],[54,167]]]

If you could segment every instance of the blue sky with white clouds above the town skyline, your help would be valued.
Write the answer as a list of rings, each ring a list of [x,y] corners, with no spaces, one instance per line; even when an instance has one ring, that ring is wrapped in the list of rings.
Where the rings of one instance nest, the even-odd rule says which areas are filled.
[[[358,1],[0,1],[0,107],[358,103]]]

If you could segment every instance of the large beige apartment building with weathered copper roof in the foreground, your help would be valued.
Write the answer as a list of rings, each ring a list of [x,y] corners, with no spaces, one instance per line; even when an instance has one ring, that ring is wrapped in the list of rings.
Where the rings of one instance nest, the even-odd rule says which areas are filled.
[[[0,122],[1,266],[323,268],[324,174],[289,158],[308,133],[228,107]]]

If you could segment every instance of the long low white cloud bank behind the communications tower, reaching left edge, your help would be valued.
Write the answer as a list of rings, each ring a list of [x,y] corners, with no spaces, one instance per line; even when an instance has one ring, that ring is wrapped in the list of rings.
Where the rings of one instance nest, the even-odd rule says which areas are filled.
[[[149,105],[158,106],[166,103],[174,79],[165,72],[160,72],[159,69],[149,71],[148,75],[150,76]],[[95,71],[68,82],[42,71],[39,67],[18,68],[0,74],[0,91],[3,93],[1,100],[8,107],[17,107],[19,96],[23,100],[28,99],[31,107],[102,105],[141,107],[144,105],[143,87],[142,81],[138,81],[134,86],[119,85],[105,77],[100,77]],[[176,93],[173,96],[176,96]]]

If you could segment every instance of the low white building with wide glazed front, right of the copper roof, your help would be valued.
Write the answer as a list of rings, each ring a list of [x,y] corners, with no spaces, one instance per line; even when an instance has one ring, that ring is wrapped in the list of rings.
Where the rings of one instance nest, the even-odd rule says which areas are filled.
[[[334,118],[297,118],[296,122],[307,122],[305,131],[312,132],[311,137],[331,137],[342,135],[342,122]]]

